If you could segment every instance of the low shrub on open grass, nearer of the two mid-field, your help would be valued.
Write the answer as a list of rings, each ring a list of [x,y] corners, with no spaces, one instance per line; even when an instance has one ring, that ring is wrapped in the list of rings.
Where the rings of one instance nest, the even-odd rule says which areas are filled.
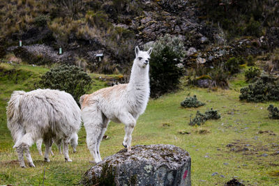
[[[202,125],[204,122],[210,119],[219,119],[221,116],[218,114],[217,110],[213,110],[212,108],[202,114],[200,111],[197,111],[197,114],[193,120],[190,119],[189,125]]]

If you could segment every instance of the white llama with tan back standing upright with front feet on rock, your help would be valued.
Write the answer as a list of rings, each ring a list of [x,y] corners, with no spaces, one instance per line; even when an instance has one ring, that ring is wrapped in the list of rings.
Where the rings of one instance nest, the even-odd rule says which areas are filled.
[[[149,100],[149,59],[147,52],[135,47],[135,60],[128,84],[103,88],[90,95],[82,95],[82,120],[86,130],[86,143],[95,162],[100,158],[100,141],[110,121],[125,124],[123,146],[131,150],[132,132],[137,118],[144,113]]]

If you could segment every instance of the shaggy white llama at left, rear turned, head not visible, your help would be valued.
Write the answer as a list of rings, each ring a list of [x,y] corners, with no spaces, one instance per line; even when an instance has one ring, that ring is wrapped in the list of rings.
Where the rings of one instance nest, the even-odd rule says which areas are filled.
[[[14,91],[7,107],[7,125],[17,150],[20,166],[25,167],[24,156],[29,166],[35,166],[29,147],[40,138],[45,143],[45,161],[50,162],[49,151],[52,139],[61,139],[65,160],[70,137],[80,130],[81,111],[73,96],[64,91],[38,89],[28,93]]]

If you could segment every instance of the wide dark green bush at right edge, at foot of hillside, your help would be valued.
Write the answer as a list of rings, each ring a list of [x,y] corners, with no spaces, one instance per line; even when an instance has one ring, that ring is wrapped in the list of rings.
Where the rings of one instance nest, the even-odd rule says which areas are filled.
[[[248,102],[263,102],[268,100],[279,100],[279,82],[272,76],[264,75],[258,77],[255,83],[241,88],[240,100]]]

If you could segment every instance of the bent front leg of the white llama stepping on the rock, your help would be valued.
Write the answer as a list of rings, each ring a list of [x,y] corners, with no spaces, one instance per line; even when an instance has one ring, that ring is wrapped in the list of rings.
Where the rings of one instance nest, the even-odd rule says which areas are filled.
[[[119,116],[121,123],[125,124],[125,137],[123,140],[123,146],[127,148],[129,152],[131,150],[132,133],[136,124],[135,118],[131,114],[122,114]]]

